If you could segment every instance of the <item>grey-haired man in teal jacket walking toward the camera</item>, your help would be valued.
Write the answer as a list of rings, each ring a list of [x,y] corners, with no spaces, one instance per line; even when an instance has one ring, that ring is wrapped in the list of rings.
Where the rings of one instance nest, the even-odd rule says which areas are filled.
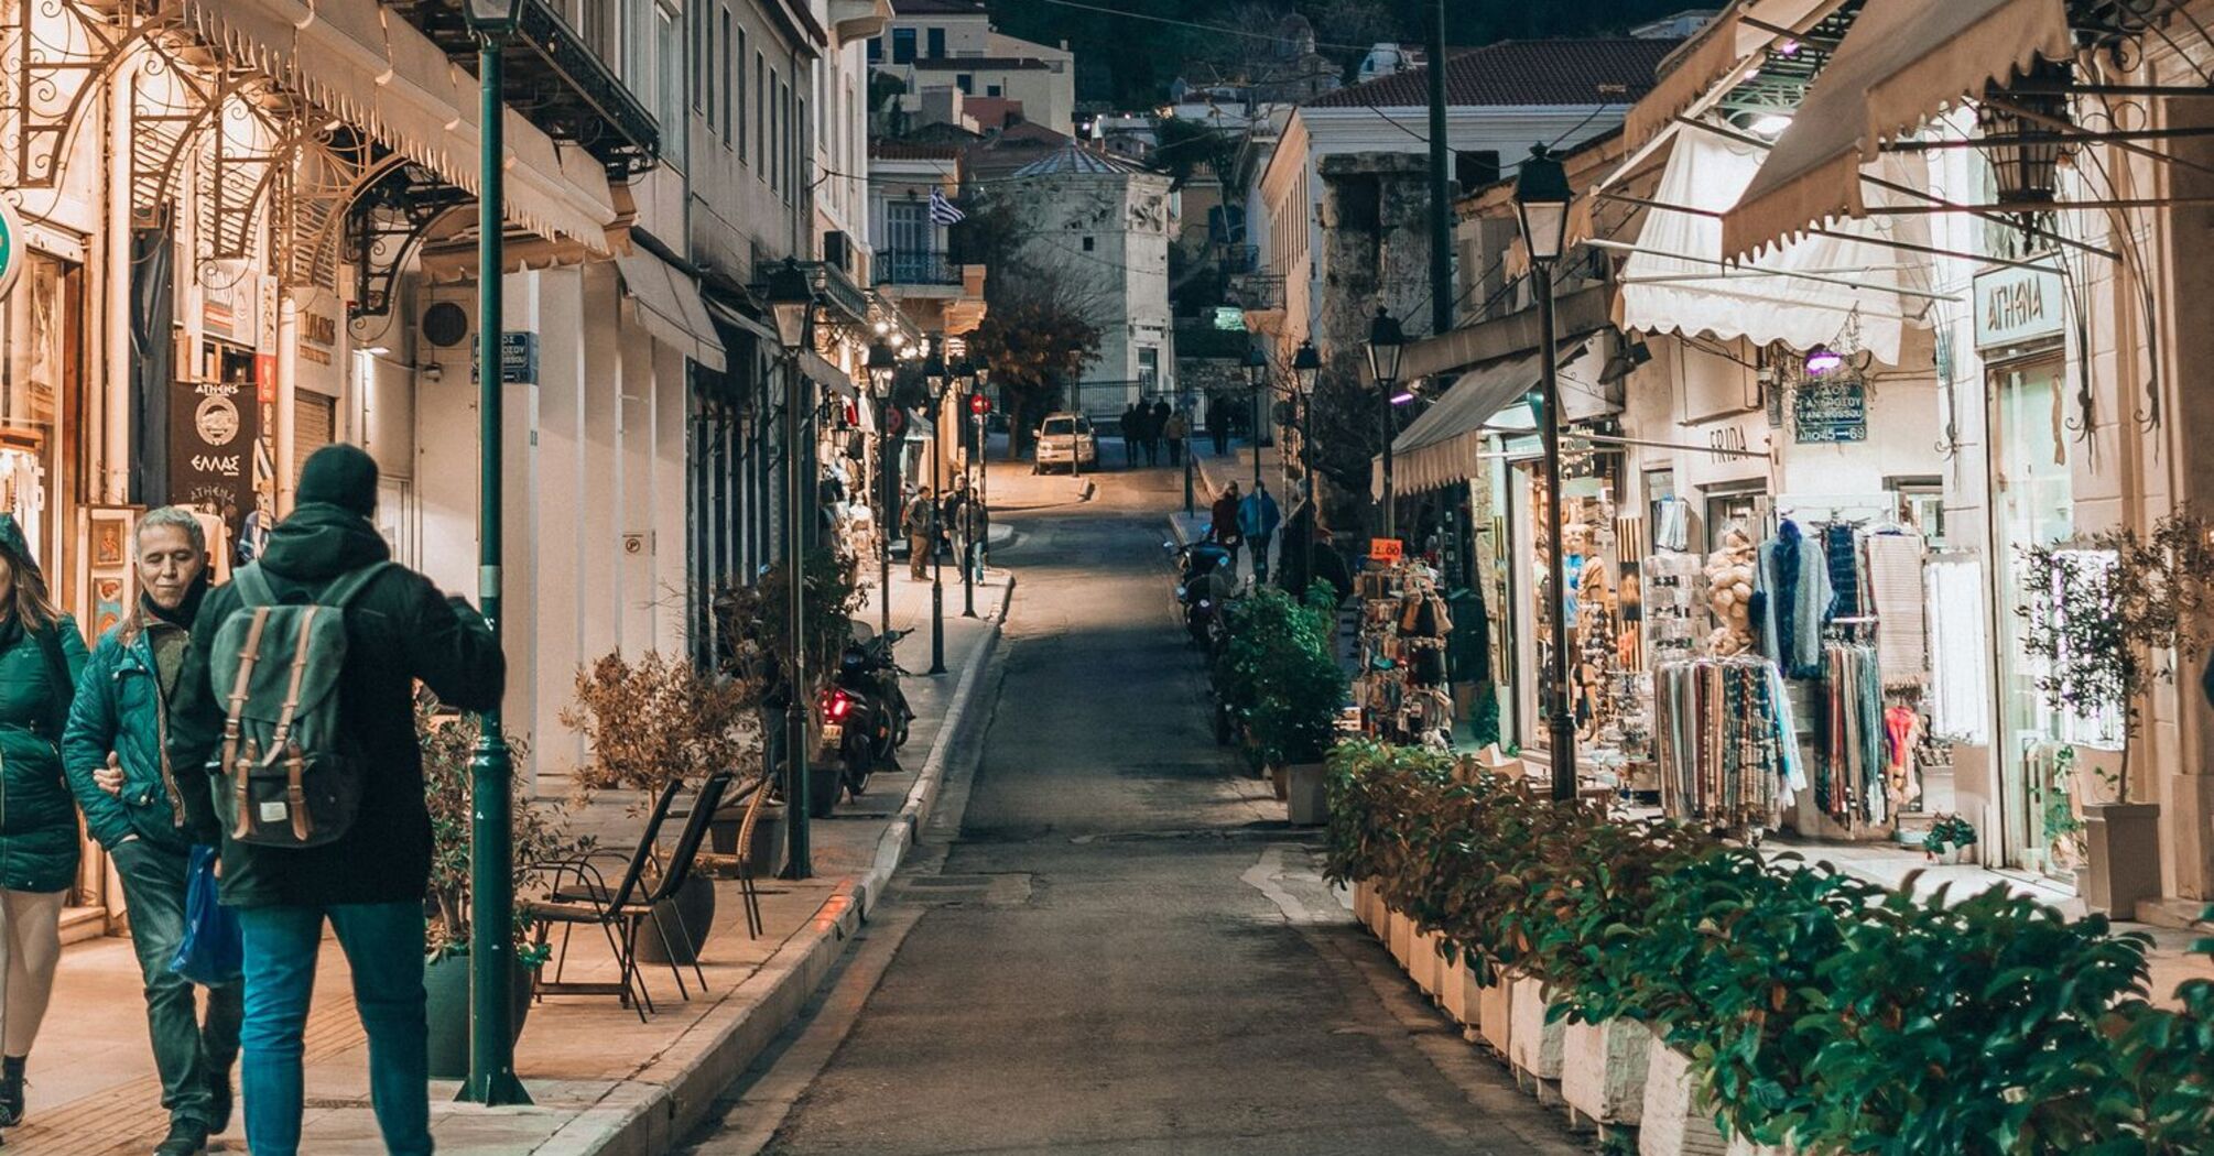
[[[170,804],[162,751],[193,616],[208,596],[208,531],[190,509],[148,512],[133,534],[139,600],[108,629],[77,680],[62,733],[62,766],[84,808],[84,828],[115,861],[131,906],[131,950],[146,983],[146,1032],[162,1076],[168,1136],[155,1156],[195,1156],[230,1127],[230,1065],[239,1059],[239,985],[208,988],[206,1021],[193,983],[168,968],[184,943],[184,892],[193,844]]]

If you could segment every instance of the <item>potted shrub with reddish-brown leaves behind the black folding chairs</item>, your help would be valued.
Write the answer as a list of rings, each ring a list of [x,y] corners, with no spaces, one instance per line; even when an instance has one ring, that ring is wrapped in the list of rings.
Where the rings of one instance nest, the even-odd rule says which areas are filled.
[[[642,813],[669,784],[697,784],[715,771],[735,771],[746,757],[742,726],[757,698],[753,682],[702,671],[689,658],[646,651],[635,660],[600,656],[576,673],[576,704],[560,713],[584,733],[591,757],[576,768],[578,799],[598,791],[635,793]],[[662,835],[675,837],[675,824]],[[673,943],[677,963],[691,963],[715,926],[715,886],[693,873],[660,926],[682,926]],[[671,950],[660,935],[638,937],[640,959],[662,961]]]

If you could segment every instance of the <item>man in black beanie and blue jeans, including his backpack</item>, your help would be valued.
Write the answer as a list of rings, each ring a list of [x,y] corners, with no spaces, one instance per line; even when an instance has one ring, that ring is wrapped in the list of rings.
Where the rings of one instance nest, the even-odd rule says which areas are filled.
[[[414,682],[447,706],[500,702],[483,616],[392,562],[370,523],[376,463],[325,445],[261,558],[208,594],[170,718],[190,822],[221,830],[224,906],[246,941],[246,1145],[294,1156],[301,1036],[328,919],[370,1036],[385,1152],[423,1156],[430,1061],[423,895],[432,833]],[[206,766],[208,773],[188,768]]]

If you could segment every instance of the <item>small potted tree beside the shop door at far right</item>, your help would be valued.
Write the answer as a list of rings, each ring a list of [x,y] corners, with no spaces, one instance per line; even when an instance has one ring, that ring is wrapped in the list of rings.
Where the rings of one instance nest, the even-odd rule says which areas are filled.
[[[2214,523],[2176,512],[2152,529],[2110,529],[2021,549],[2024,651],[2044,664],[2037,691],[2061,718],[2110,726],[2121,766],[2083,799],[2090,910],[2132,917],[2159,897],[2159,804],[2132,797],[2130,755],[2154,680],[2174,680],[2207,640]],[[2092,760],[2094,762],[2094,755]]]

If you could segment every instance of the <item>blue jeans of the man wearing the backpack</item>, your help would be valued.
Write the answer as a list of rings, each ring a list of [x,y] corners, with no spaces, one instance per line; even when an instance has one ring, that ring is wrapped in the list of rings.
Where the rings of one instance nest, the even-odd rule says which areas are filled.
[[[423,1021],[423,904],[239,908],[246,932],[246,1147],[299,1154],[301,1036],[314,997],[323,919],[354,972],[370,1034],[370,1103],[392,1156],[430,1156],[430,1056]]]

